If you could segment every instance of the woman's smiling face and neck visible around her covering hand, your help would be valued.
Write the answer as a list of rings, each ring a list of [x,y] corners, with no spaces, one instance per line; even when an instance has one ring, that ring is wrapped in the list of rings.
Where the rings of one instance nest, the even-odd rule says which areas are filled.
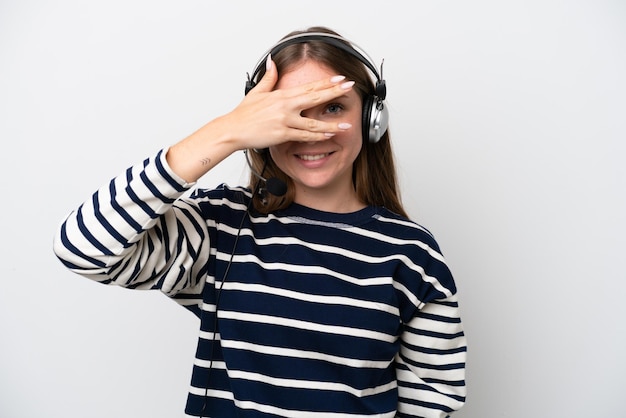
[[[276,88],[283,89],[300,84],[330,78],[336,71],[306,60],[284,73]],[[348,122],[350,129],[320,142],[286,142],[270,147],[272,159],[287,174],[295,186],[297,203],[318,207],[317,203],[331,204],[327,210],[341,210],[333,204],[341,202],[345,210],[354,210],[359,205],[352,184],[352,165],[361,151],[362,101],[355,89],[346,92],[328,103],[307,109],[302,115],[312,119]]]

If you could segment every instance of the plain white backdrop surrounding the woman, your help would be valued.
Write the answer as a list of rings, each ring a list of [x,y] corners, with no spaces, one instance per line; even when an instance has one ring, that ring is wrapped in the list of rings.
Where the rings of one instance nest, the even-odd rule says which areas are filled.
[[[460,289],[456,416],[626,416],[624,2],[3,0],[1,417],[182,414],[196,319],[69,273],[52,235],[318,24],[385,60],[403,197]],[[246,178],[235,155],[202,185]]]

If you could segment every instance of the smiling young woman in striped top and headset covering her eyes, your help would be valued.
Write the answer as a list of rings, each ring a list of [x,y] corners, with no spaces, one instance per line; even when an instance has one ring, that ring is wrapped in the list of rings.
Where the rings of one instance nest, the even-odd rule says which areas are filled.
[[[456,288],[400,202],[384,80],[322,27],[261,62],[234,110],[71,212],[57,256],[198,316],[188,416],[448,416],[465,400]],[[241,150],[247,187],[185,193]]]

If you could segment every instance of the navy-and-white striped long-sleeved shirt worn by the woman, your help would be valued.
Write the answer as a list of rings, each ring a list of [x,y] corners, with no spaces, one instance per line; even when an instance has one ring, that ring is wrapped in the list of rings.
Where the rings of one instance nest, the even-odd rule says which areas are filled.
[[[245,188],[192,186],[163,150],[54,241],[70,270],[158,289],[200,318],[187,416],[441,418],[463,405],[456,287],[426,229],[371,206],[259,214]]]

